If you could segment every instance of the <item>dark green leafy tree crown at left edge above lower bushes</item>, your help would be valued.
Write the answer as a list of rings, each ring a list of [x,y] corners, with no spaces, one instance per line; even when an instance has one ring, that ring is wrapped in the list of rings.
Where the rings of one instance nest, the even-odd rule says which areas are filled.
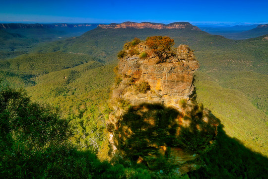
[[[0,87],[0,147],[44,151],[67,141],[71,130],[49,106],[31,102],[22,89]]]

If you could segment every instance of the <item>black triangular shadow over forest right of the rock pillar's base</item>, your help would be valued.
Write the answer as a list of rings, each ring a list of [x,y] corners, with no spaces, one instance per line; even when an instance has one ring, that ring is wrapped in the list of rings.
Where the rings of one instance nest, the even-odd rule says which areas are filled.
[[[190,179],[268,179],[268,158],[227,136],[223,125],[215,146],[201,159],[206,167],[189,172]]]

